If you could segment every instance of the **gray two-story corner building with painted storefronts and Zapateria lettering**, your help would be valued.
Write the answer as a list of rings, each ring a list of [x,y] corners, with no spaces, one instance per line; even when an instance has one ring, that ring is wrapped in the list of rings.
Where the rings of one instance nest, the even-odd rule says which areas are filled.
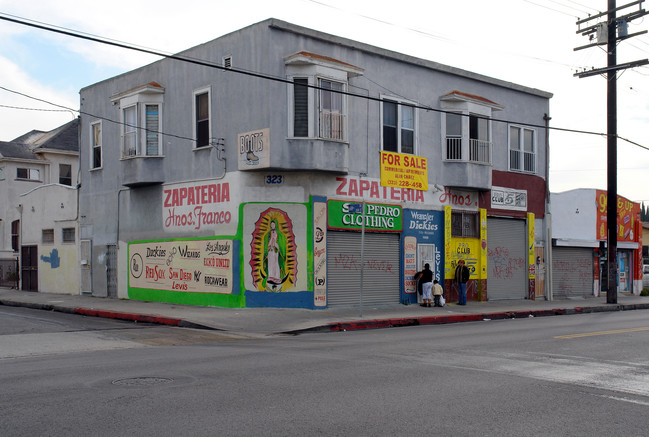
[[[275,19],[90,85],[81,287],[414,303],[428,262],[453,301],[465,259],[469,299],[543,296],[550,97]]]

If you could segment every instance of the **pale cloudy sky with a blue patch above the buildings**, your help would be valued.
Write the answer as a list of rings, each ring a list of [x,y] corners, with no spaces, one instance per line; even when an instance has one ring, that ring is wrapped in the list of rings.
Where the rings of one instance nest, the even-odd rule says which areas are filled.
[[[631,0],[618,0],[618,6],[628,3]],[[604,11],[607,4],[607,0],[0,0],[0,14],[165,53],[278,18],[551,92],[551,127],[605,134],[606,79],[574,77],[582,69],[605,67],[605,48],[573,49],[589,43],[577,33],[578,19]],[[630,34],[646,30],[649,15],[629,25]],[[647,58],[649,34],[617,46],[618,64]],[[0,20],[0,141],[72,120],[77,114],[60,106],[78,109],[81,88],[157,59]],[[649,203],[649,65],[618,73],[617,95],[618,135],[636,143],[618,139],[618,194]],[[605,190],[606,169],[605,136],[551,131],[552,192]]]

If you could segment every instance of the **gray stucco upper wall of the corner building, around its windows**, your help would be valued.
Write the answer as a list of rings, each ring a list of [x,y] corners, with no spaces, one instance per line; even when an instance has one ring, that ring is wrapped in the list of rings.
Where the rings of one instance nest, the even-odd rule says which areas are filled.
[[[325,55],[360,67],[363,75],[349,80],[349,92],[368,96],[371,100],[347,97],[348,141],[330,143],[321,140],[295,140],[288,133],[289,85],[234,71],[194,65],[174,59],[162,59],[123,75],[107,79],[81,90],[81,145],[82,172],[80,226],[82,238],[92,239],[93,284],[105,286],[101,277],[102,253],[105,245],[140,239],[161,238],[162,218],[159,213],[162,199],[160,185],[126,189],[120,175],[127,165],[120,158],[119,105],[111,96],[156,82],[164,87],[161,130],[163,159],[155,163],[165,183],[222,178],[237,172],[237,135],[255,129],[270,129],[272,145],[271,167],[279,170],[308,172],[318,178],[334,178],[345,174],[380,175],[378,153],[381,145],[381,96],[402,97],[431,110],[417,110],[418,155],[428,159],[429,184],[459,185],[457,164],[445,163],[443,157],[442,114],[440,98],[453,90],[475,94],[502,106],[493,117],[516,120],[541,126],[544,114],[549,114],[551,95],[539,90],[487,78],[475,73],[443,66],[349,41],[309,29],[268,20],[225,35],[214,41],[191,48],[179,54],[183,57],[221,64],[223,56],[232,57],[235,69],[262,73],[274,78],[286,78],[285,57],[300,51]],[[211,123],[214,138],[225,140],[222,159],[214,148],[196,150],[193,147],[193,92],[210,87]],[[104,119],[103,166],[90,170],[90,124]],[[476,171],[508,170],[506,123],[492,122],[493,164]],[[545,177],[545,132],[536,129],[536,174]],[[339,154],[345,154],[344,157]],[[313,169],[340,168],[343,171]],[[268,172],[269,170],[265,170]],[[262,172],[263,173],[263,172]],[[461,172],[460,172],[461,173]],[[471,169],[465,172],[469,176]],[[302,180],[302,175],[298,180]],[[479,176],[482,178],[482,176]],[[490,178],[490,176],[489,176]],[[308,179],[308,178],[307,178]],[[263,192],[263,178],[244,177],[251,187],[236,187],[241,201],[257,199]],[[255,182],[256,181],[256,182]],[[489,179],[490,181],[490,179]],[[479,185],[479,184],[478,184]],[[468,185],[470,186],[470,184]],[[288,187],[287,187],[288,188]],[[255,194],[255,191],[257,194]],[[296,193],[298,195],[296,195]],[[303,196],[299,194],[302,193]],[[304,187],[302,191],[288,189],[278,195],[282,200],[304,202],[309,195],[324,194],[319,186]],[[298,198],[301,197],[301,198]],[[270,199],[265,199],[270,200]],[[119,210],[119,211],[118,211]],[[119,217],[118,217],[119,212]],[[119,230],[118,230],[119,227]],[[208,230],[196,232],[195,237],[212,234]],[[119,236],[118,236],[119,235]],[[164,237],[186,236],[166,233]]]

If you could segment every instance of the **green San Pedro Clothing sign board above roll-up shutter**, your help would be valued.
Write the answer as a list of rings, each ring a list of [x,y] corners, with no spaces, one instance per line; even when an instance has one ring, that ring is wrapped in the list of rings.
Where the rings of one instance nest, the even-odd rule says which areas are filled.
[[[327,227],[360,231],[363,227],[361,202],[329,200],[327,202]],[[378,232],[401,232],[403,230],[403,211],[398,205],[378,203],[365,204],[365,230]]]

